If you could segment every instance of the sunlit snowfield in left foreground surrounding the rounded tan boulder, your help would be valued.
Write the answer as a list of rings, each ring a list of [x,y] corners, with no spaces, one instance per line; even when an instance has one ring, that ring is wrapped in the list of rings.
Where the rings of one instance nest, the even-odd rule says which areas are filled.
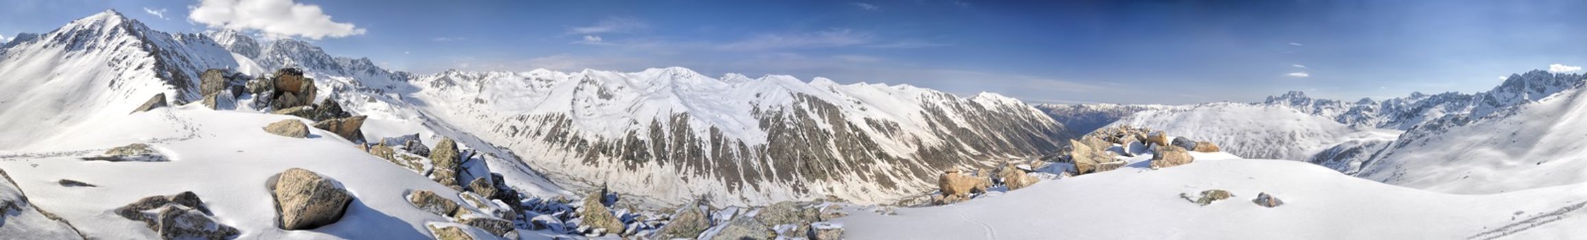
[[[213,111],[198,105],[157,108],[114,122],[73,129],[33,145],[27,154],[0,153],[5,168],[35,207],[49,210],[87,237],[159,238],[113,210],[149,195],[195,192],[238,238],[428,238],[427,223],[446,218],[409,205],[406,192],[457,191],[370,156],[335,134],[311,129],[308,138],[268,134],[262,126],[298,119],[284,114]],[[170,162],[83,161],[105,148],[149,143]],[[330,176],[355,200],[341,221],[313,230],[281,230],[267,180],[298,167]],[[89,186],[62,186],[75,180]],[[540,237],[524,232],[527,238]]]

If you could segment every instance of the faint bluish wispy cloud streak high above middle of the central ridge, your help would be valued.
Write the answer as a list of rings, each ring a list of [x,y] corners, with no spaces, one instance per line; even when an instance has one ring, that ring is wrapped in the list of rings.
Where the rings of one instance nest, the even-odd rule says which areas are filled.
[[[760,51],[760,49],[786,49],[786,48],[836,48],[836,46],[854,46],[865,45],[876,38],[867,32],[854,32],[847,29],[833,29],[822,32],[805,32],[805,33],[763,33],[752,38],[727,43],[717,49],[730,51]]]

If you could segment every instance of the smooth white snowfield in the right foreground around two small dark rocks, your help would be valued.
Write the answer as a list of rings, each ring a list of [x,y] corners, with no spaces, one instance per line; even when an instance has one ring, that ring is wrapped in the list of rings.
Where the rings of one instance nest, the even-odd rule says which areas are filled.
[[[1133,165],[1133,164],[1132,164]],[[1181,192],[1227,189],[1200,207]],[[1268,192],[1284,205],[1252,202]],[[847,238],[1570,238],[1587,184],[1430,192],[1295,161],[1197,161],[1041,181],[963,203],[857,213]]]

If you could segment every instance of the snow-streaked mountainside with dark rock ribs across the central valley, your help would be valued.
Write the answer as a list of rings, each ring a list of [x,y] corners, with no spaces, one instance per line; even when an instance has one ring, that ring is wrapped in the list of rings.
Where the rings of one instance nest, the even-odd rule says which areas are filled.
[[[759,205],[925,192],[952,165],[1057,151],[1070,134],[997,94],[687,68],[444,72],[414,79],[430,113],[552,178],[679,203]]]

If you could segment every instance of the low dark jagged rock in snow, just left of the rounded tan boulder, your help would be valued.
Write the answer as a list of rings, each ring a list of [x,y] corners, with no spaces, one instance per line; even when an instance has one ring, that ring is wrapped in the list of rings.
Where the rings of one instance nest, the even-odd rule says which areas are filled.
[[[222,240],[238,234],[235,227],[219,224],[209,215],[209,208],[194,192],[144,197],[116,208],[114,213],[132,221],[141,221],[149,230],[167,240]]]

